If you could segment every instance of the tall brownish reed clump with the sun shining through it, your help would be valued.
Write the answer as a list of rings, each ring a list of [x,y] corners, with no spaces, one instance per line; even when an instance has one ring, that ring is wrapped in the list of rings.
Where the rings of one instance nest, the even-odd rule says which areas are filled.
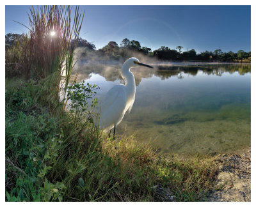
[[[58,94],[61,80],[67,89],[74,66],[74,50],[83,23],[84,13],[76,6],[74,19],[70,6],[31,6],[29,8],[29,34],[17,43],[19,65],[26,79],[51,79],[51,92]],[[13,49],[12,49],[13,50]],[[6,60],[12,61],[6,51]],[[57,98],[57,97],[56,97]]]

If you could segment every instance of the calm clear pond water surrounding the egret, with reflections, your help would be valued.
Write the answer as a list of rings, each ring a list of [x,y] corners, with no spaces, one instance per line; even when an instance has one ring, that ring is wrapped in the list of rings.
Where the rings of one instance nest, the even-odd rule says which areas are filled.
[[[163,64],[134,68],[136,98],[117,134],[136,133],[162,153],[221,153],[250,146],[250,65]],[[79,80],[100,86],[99,101],[124,83],[120,66],[83,65]]]

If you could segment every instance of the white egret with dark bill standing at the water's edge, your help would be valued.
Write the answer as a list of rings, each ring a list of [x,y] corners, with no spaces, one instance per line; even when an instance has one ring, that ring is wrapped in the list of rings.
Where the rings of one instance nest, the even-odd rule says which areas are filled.
[[[100,111],[100,128],[104,128],[104,132],[114,128],[114,139],[116,125],[122,121],[127,110],[129,110],[129,112],[131,111],[134,103],[136,86],[134,75],[130,71],[130,68],[138,66],[153,68],[152,66],[140,63],[140,61],[135,57],[127,59],[121,70],[121,75],[125,79],[125,85],[117,84],[116,86],[113,86],[102,101]]]

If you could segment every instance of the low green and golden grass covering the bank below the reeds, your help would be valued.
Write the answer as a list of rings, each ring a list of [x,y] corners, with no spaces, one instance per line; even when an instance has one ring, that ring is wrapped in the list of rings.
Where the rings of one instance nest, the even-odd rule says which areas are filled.
[[[6,201],[158,201],[157,185],[175,201],[204,201],[212,158],[164,157],[134,136],[113,141],[48,104],[42,84],[6,81]]]

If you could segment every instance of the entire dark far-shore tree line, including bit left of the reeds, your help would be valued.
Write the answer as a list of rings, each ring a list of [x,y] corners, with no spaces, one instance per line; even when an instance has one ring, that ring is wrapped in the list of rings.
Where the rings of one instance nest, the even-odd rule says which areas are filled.
[[[12,47],[13,42],[17,38],[22,38],[24,34],[6,34],[5,42],[6,47]],[[139,52],[148,57],[156,57],[163,61],[205,61],[205,62],[250,62],[251,52],[245,52],[244,50],[238,50],[237,52],[223,52],[221,49],[216,49],[213,52],[205,50],[204,52],[196,53],[195,49],[182,51],[182,46],[177,46],[175,49],[161,46],[159,49],[152,50],[149,47],[142,47],[137,40],[129,40],[124,38],[120,45],[111,41],[108,45],[105,45],[101,49],[96,50],[93,43],[79,38],[74,40],[74,45],[77,47],[86,48],[87,52],[94,51],[98,56],[108,57],[110,60],[120,60],[121,58],[127,58],[131,55],[131,52]],[[86,52],[84,53],[86,56]]]

